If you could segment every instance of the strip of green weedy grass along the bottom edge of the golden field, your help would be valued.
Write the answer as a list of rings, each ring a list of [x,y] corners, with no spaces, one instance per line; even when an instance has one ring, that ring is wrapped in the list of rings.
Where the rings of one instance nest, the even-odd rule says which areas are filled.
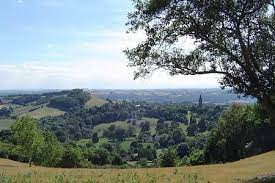
[[[178,176],[175,178],[175,176]],[[25,174],[7,175],[0,174],[0,183],[158,183],[158,182],[178,182],[178,183],[208,183],[197,174],[170,175],[169,177],[160,179],[155,175],[146,174],[140,176],[135,172],[127,174],[116,174],[108,177],[108,175],[97,174],[90,176],[82,176],[72,173],[61,173],[57,175],[47,176],[36,171]]]

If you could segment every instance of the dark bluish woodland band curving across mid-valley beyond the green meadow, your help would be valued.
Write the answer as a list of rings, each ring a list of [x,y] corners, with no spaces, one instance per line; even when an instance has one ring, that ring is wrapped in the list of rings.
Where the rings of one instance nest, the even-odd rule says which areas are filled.
[[[52,131],[59,141],[65,142],[68,140],[91,138],[91,130],[98,124],[137,120],[142,117],[153,117],[188,125],[190,121],[187,118],[188,111],[192,114],[198,113],[193,116],[195,123],[192,124],[193,128],[189,130],[191,134],[195,135],[202,129],[202,127],[197,127],[197,120],[203,122],[205,128],[203,131],[211,129],[215,126],[215,122],[222,113],[223,107],[207,106],[198,110],[197,107],[178,104],[160,105],[144,102],[109,102],[91,109],[75,109],[64,116],[43,118],[40,120],[40,126]]]

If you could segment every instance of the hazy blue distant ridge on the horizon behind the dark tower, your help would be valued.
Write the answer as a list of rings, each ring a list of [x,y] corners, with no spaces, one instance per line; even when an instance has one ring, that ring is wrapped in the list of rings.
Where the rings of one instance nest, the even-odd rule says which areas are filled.
[[[221,89],[91,90],[91,92],[99,98],[153,103],[198,103],[200,95],[203,103],[255,102],[251,98],[238,97],[229,90]]]

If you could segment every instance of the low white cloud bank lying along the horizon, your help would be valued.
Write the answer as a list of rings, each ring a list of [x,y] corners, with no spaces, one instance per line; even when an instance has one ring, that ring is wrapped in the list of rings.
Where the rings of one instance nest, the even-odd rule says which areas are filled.
[[[156,72],[133,81],[125,62],[82,60],[63,63],[34,62],[0,65],[2,89],[31,88],[201,88],[217,87],[217,76],[176,76]]]

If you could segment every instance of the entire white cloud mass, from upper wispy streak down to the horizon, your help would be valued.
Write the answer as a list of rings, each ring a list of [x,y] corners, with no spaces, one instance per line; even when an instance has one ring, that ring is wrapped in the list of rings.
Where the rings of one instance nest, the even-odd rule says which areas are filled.
[[[93,35],[94,34],[94,35]],[[174,76],[156,72],[147,79],[133,80],[133,68],[127,67],[122,50],[134,47],[144,34],[103,31],[91,33],[91,39],[66,46],[48,43],[47,55],[65,55],[70,59],[25,61],[22,64],[0,64],[1,89],[37,88],[206,88],[218,87],[217,76]],[[185,40],[188,49],[191,40]],[[85,55],[83,57],[83,55]]]

